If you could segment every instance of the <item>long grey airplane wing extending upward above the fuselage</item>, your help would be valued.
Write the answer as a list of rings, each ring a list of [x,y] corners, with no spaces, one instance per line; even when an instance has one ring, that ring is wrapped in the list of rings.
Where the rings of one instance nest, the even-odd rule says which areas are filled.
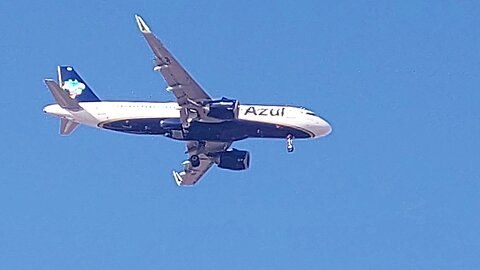
[[[192,105],[198,107],[201,102],[211,100],[210,96],[150,31],[142,17],[135,15],[135,19],[138,28],[155,54],[154,70],[162,74],[168,85],[167,90],[175,95],[178,104],[184,108]]]

